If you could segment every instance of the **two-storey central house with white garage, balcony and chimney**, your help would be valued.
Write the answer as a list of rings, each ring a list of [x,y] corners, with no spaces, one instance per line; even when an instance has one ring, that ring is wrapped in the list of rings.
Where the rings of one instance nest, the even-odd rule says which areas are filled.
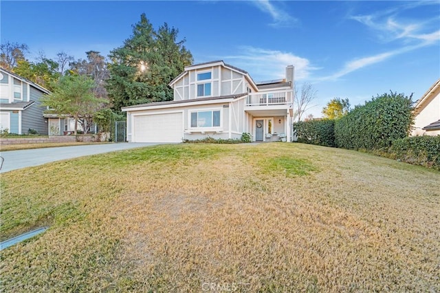
[[[185,67],[170,82],[174,100],[122,107],[129,142],[182,142],[206,137],[252,141],[292,138],[294,66],[282,80],[255,83],[243,69],[213,61]]]

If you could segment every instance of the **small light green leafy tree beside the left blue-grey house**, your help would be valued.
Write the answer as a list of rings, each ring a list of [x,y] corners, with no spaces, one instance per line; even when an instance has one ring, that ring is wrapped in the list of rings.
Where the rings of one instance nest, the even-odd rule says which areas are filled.
[[[41,101],[44,106],[50,107],[50,111],[72,116],[75,119],[75,134],[78,122],[87,132],[94,113],[107,102],[97,98],[93,89],[94,80],[87,76],[62,76],[54,85],[52,93],[44,95]]]

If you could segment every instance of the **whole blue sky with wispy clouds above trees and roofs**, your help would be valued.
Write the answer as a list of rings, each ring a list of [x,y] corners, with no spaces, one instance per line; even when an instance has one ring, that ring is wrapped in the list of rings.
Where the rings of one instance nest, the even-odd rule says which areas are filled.
[[[1,42],[25,43],[28,58],[76,59],[123,45],[143,12],[164,22],[195,63],[223,60],[256,81],[283,78],[295,66],[296,86],[311,83],[320,117],[331,98],[363,104],[397,91],[413,100],[440,78],[440,1],[5,1]]]

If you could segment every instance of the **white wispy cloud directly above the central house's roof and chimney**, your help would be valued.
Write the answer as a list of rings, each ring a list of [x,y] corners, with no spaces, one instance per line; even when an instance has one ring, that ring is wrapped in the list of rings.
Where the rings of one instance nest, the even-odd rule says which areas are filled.
[[[259,47],[241,46],[234,56],[221,56],[223,60],[245,69],[254,80],[285,78],[287,65],[295,66],[295,80],[303,80],[318,68],[313,67],[307,58],[296,56],[292,52],[267,50]],[[229,62],[229,61],[228,61]]]

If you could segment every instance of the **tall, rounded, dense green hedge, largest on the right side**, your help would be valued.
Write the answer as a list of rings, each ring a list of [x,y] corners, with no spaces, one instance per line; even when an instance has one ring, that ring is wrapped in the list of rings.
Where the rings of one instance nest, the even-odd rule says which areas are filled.
[[[412,122],[411,97],[383,94],[336,121],[335,143],[344,149],[388,149],[408,136]]]

